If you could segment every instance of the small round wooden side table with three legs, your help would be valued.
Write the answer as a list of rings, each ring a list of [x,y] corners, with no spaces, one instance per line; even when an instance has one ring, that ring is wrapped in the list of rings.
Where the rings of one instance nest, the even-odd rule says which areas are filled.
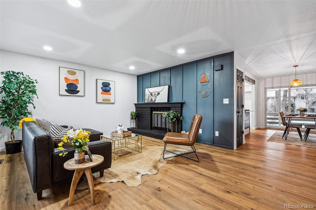
[[[68,201],[68,206],[70,207],[73,204],[73,199],[74,199],[74,194],[75,190],[79,181],[79,178],[81,175],[85,174],[88,180],[88,186],[89,186],[89,191],[91,194],[91,204],[94,205],[95,199],[94,199],[94,183],[93,183],[93,176],[91,173],[91,168],[97,165],[100,165],[104,157],[102,155],[92,155],[93,156],[93,161],[89,161],[89,157],[86,156],[85,160],[81,164],[75,164],[74,158],[66,161],[64,163],[64,168],[68,170],[75,170],[75,174],[73,177],[73,181],[71,182],[71,187],[70,187],[70,192],[69,192],[69,201]]]

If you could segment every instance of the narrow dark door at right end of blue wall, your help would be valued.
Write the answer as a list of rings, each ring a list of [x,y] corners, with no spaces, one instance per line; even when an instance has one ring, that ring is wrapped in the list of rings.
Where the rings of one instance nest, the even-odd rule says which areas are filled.
[[[242,144],[242,126],[243,126],[243,117],[242,117],[242,108],[243,108],[243,73],[240,70],[237,70],[237,146]]]

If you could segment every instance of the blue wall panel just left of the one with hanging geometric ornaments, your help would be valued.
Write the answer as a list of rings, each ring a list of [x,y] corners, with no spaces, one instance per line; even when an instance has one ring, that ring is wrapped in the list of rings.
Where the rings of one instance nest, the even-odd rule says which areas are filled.
[[[190,129],[193,115],[197,112],[197,63],[191,63],[182,66],[183,73],[183,124],[182,128],[185,131]]]

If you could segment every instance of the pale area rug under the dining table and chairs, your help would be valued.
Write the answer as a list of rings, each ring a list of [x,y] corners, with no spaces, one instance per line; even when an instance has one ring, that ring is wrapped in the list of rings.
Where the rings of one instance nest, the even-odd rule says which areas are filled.
[[[282,139],[283,132],[284,131],[276,131],[276,133],[274,133],[268,139],[268,141],[316,148],[316,135],[315,134],[310,133],[306,141],[304,139],[303,141],[301,141],[296,131],[290,131],[290,133],[287,136],[287,140],[285,140],[285,137],[283,137]],[[302,133],[302,135],[304,135],[304,133]]]

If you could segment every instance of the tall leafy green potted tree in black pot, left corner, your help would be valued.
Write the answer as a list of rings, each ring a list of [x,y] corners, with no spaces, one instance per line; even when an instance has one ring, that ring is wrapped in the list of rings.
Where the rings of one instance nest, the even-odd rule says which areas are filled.
[[[3,76],[0,87],[0,125],[11,129],[11,141],[5,142],[6,154],[20,152],[22,140],[15,140],[14,130],[18,130],[22,118],[31,114],[29,105],[33,104],[34,96],[38,98],[36,84],[29,75],[16,71],[1,71]]]

